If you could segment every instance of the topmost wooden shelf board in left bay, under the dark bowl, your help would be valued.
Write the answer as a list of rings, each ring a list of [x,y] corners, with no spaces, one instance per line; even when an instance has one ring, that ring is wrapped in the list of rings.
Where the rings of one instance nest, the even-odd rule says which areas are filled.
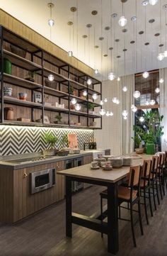
[[[27,69],[30,71],[42,69],[42,66],[36,64],[35,62],[26,60],[25,58],[18,56],[16,54],[14,54],[13,52],[9,52],[8,50],[4,50],[4,57],[6,57],[8,60],[10,60],[13,65],[22,67],[23,69]]]

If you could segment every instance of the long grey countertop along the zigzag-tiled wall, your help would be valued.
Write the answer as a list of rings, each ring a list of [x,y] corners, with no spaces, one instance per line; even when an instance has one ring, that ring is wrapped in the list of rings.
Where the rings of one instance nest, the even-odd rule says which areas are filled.
[[[59,161],[64,161],[64,160],[69,160],[69,159],[74,159],[77,157],[84,157],[86,155],[92,155],[93,152],[100,152],[100,150],[81,150],[79,154],[72,154],[72,155],[67,155],[64,157],[59,157],[59,156],[53,156],[53,157],[48,157],[42,160],[36,160],[36,161],[28,161],[28,162],[17,162],[13,163],[10,162],[11,160],[20,160],[25,158],[30,158],[30,157],[40,157],[38,153],[35,154],[23,154],[23,155],[13,155],[13,156],[8,156],[8,157],[2,157],[0,161],[0,169],[23,169],[27,167],[34,167],[37,165],[45,165],[45,164],[50,164],[52,162],[59,162]]]

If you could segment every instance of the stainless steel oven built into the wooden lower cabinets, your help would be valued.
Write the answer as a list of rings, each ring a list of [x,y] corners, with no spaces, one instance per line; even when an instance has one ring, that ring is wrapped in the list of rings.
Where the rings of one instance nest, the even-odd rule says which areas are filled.
[[[39,172],[30,173],[30,193],[35,194],[49,189],[56,183],[56,170],[54,168],[43,169]]]

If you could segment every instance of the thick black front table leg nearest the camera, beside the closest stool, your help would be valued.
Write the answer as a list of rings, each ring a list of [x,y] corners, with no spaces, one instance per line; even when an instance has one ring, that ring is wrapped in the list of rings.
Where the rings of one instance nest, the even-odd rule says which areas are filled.
[[[108,252],[119,250],[117,184],[108,184]]]

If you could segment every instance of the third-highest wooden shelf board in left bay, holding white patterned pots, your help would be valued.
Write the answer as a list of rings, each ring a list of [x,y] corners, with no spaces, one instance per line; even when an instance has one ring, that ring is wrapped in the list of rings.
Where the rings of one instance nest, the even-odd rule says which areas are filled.
[[[14,104],[20,106],[27,106],[27,107],[41,107],[42,104],[35,103],[32,101],[23,101],[21,99],[12,98],[10,96],[4,96],[4,104]]]

